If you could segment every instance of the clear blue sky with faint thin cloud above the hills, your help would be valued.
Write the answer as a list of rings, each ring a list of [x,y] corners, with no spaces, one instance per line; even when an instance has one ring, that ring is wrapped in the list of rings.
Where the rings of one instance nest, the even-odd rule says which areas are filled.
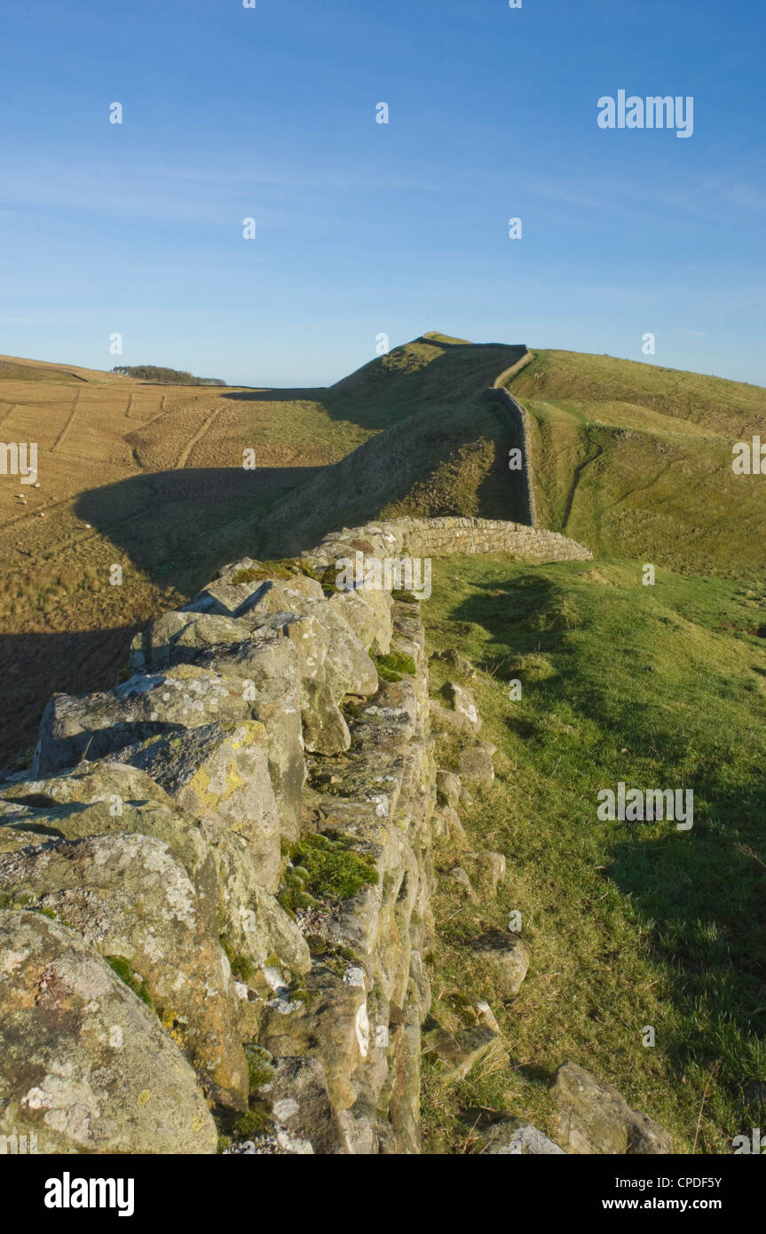
[[[323,385],[439,329],[766,385],[762,0],[37,0],[2,26],[2,353]],[[693,95],[693,136],[601,130],[619,89]]]

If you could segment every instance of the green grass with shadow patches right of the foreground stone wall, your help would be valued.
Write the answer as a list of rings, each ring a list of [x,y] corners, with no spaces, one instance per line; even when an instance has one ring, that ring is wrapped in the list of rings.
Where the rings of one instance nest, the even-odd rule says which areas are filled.
[[[461,818],[474,848],[508,859],[491,906],[466,906],[439,879],[434,1014],[454,1028],[466,995],[487,997],[513,1065],[447,1088],[427,1060],[427,1145],[470,1146],[470,1111],[545,1130],[548,1082],[571,1058],[678,1151],[692,1150],[704,1097],[697,1151],[729,1151],[766,1114],[745,1096],[766,1080],[766,587],[662,570],[643,586],[640,563],[624,560],[434,565],[429,645],[481,669],[481,735],[498,747],[492,792]],[[435,695],[454,670],[430,664]],[[692,830],[598,822],[597,792],[620,780],[693,789]],[[442,872],[456,859],[437,847]],[[503,1008],[465,943],[514,909],[533,959]]]

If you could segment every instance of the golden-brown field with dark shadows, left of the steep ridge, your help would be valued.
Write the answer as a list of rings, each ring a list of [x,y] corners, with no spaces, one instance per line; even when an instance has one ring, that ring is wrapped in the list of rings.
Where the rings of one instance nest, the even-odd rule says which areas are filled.
[[[369,436],[291,394],[0,358],[0,441],[37,447],[35,482],[0,474],[0,765],[53,690],[115,684],[131,632],[226,559],[224,528]]]

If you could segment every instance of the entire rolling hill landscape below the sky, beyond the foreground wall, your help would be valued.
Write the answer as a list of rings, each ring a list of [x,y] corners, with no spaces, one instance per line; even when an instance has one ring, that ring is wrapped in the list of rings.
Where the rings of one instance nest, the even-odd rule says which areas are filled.
[[[113,684],[130,634],[223,560],[294,555],[379,516],[521,518],[516,429],[481,397],[497,383],[529,411],[543,526],[681,571],[762,569],[766,487],[733,475],[730,450],[766,424],[766,391],[525,355],[429,333],[311,390],[169,387],[0,357],[0,437],[38,443],[39,480],[0,475],[0,761],[28,749],[52,690]]]

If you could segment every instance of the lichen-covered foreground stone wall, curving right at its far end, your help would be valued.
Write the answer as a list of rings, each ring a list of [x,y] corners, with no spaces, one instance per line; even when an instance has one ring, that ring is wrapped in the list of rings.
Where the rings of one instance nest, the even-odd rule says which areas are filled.
[[[223,568],[134,639],[115,690],[53,696],[31,775],[0,776],[0,1134],[418,1151],[451,808],[432,722],[465,717],[429,703],[417,602],[334,578],[358,553],[450,550],[590,557],[485,520],[353,528]],[[466,775],[491,782],[465,713]]]

